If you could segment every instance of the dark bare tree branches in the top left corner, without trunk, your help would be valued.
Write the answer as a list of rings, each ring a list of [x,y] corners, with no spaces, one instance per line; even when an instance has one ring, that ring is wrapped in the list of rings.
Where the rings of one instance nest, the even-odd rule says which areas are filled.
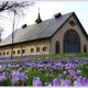
[[[6,10],[15,10],[15,9],[24,9],[28,6],[33,4],[33,1],[0,1],[0,12],[3,12]]]

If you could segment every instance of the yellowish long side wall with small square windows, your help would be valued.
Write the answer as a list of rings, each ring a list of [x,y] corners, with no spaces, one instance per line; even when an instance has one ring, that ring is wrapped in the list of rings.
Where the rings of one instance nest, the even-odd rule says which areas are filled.
[[[36,47],[40,47],[40,52],[36,52]],[[46,52],[43,52],[43,47],[46,47]],[[34,48],[34,52],[31,53],[31,48]],[[18,54],[18,51],[25,50],[24,54]],[[43,41],[34,41],[34,42],[26,42],[21,44],[15,44],[13,51],[15,51],[15,54],[13,56],[25,56],[25,55],[45,55],[50,54],[50,40],[43,40]],[[9,52],[9,55],[0,55],[2,57],[11,56],[11,46],[4,46],[0,48],[0,53]]]

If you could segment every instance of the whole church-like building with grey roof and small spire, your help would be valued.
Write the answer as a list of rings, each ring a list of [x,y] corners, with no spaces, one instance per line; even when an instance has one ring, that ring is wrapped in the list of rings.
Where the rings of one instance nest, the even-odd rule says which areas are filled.
[[[57,13],[42,21],[38,13],[33,25],[23,25],[0,43],[0,57],[88,53],[88,35],[75,12]]]

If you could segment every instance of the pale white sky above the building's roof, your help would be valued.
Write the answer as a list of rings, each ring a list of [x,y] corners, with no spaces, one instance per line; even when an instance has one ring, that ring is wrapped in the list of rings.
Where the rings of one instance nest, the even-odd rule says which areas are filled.
[[[26,8],[23,15],[16,16],[15,29],[21,29],[23,24],[34,24],[40,13],[42,20],[54,18],[55,13],[62,14],[75,12],[88,34],[88,1],[35,1],[34,4]],[[4,18],[6,16],[6,18]],[[2,13],[0,18],[0,26],[3,29],[2,38],[6,38],[12,32],[11,13]]]

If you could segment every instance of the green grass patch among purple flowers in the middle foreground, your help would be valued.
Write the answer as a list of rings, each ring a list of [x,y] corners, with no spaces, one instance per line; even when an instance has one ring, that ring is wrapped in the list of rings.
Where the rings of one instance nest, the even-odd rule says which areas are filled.
[[[45,73],[51,73],[53,76],[46,77]],[[43,82],[50,82],[54,78],[58,77],[59,73],[61,72],[55,72],[55,70],[51,72],[50,69],[48,70],[37,70],[36,68],[32,68],[28,74],[29,78],[26,80],[26,86],[32,86],[32,81],[34,77],[40,77]]]

